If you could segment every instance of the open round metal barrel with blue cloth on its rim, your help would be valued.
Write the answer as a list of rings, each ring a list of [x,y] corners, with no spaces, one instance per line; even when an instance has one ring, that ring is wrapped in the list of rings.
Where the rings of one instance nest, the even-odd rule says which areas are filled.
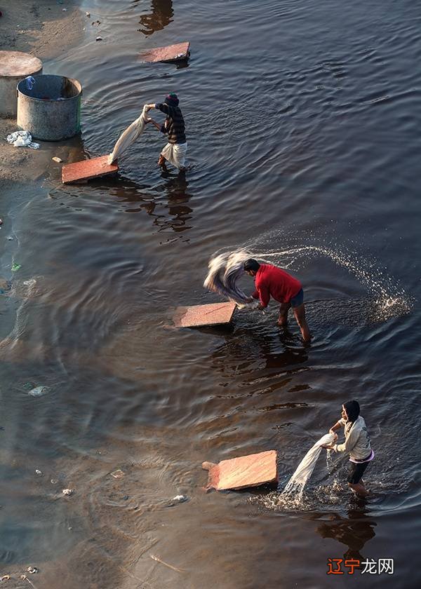
[[[82,86],[77,80],[50,74],[34,76],[29,89],[18,83],[18,127],[44,141],[73,137],[81,128]]]

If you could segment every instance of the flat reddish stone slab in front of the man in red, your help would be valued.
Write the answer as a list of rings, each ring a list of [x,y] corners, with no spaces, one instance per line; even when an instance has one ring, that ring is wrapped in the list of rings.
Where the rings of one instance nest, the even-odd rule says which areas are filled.
[[[224,325],[232,320],[236,304],[213,303],[178,307],[173,316],[175,327],[203,327],[205,325]]]

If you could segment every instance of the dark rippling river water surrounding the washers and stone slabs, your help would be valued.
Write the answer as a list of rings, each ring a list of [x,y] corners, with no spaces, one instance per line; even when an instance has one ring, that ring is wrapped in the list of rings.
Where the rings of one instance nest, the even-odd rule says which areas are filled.
[[[175,91],[190,168],[161,174],[147,128],[115,179],[62,187],[50,165],[8,186],[2,574],[33,564],[39,589],[419,586],[419,5],[81,8],[83,43],[44,64],[81,81],[81,137],[41,149],[106,154]],[[184,40],[188,67],[138,60]],[[237,311],[228,332],[171,328],[176,306],[220,300],[202,287],[208,259],[239,247],[302,280],[310,347],[293,323],[279,332],[276,306]],[[282,503],[351,398],[375,449],[373,496],[354,499],[346,461],[323,453],[302,504]],[[267,449],[279,491],[203,492],[203,460]],[[189,500],[172,506],[177,494]],[[326,576],[328,558],[352,557],[392,558],[394,574]]]

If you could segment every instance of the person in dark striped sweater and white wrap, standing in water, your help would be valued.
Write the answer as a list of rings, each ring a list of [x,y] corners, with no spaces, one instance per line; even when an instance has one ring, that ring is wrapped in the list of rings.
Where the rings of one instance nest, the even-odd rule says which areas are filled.
[[[185,135],[185,122],[180,107],[178,106],[178,96],[174,93],[168,94],[163,102],[147,104],[147,110],[156,109],[166,114],[163,125],[156,123],[154,119],[147,119],[147,123],[152,123],[161,133],[167,135],[168,143],[161,151],[158,165],[164,171],[167,171],[166,162],[172,163],[175,168],[184,171],[185,160],[187,155],[187,140]]]

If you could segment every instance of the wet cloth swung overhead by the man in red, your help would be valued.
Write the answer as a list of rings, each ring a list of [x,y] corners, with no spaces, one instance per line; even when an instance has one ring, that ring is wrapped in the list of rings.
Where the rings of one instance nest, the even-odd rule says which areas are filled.
[[[257,303],[250,302],[250,297],[237,284],[244,274],[244,262],[250,257],[252,257],[250,252],[236,250],[211,258],[208,264],[208,276],[203,286],[218,292],[222,297],[236,302],[239,306],[255,306]]]

